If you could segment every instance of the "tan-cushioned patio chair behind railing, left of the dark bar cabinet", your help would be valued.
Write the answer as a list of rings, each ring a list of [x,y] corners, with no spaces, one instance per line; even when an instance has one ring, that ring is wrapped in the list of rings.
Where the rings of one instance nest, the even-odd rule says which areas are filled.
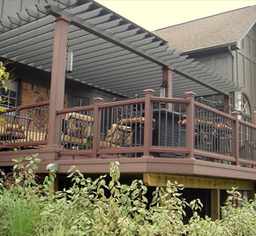
[[[105,141],[101,141],[101,148],[128,147],[132,141],[132,129],[129,126],[112,124]]]

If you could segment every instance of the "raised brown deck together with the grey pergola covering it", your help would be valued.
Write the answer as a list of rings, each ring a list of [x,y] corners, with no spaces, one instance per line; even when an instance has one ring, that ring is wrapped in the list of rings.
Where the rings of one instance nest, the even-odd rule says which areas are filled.
[[[223,112],[241,86],[94,1],[34,3],[1,1],[0,60],[16,77],[1,114],[4,170],[36,152],[38,173],[53,166],[64,185],[71,166],[97,175],[118,160],[125,179],[183,183],[212,218],[226,189],[253,197],[256,127]]]

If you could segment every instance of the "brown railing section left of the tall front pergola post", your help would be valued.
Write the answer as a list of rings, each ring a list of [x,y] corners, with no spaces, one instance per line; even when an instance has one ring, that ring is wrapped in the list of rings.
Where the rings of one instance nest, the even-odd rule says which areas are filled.
[[[7,109],[0,119],[1,149],[47,144],[49,101]]]

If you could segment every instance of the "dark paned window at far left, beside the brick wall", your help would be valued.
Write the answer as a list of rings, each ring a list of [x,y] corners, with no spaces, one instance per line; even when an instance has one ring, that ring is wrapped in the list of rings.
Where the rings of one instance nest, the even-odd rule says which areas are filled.
[[[10,81],[7,83],[7,92],[5,92],[4,88],[1,88],[0,95],[3,100],[6,100],[1,104],[4,108],[11,108],[18,106],[18,82]]]

